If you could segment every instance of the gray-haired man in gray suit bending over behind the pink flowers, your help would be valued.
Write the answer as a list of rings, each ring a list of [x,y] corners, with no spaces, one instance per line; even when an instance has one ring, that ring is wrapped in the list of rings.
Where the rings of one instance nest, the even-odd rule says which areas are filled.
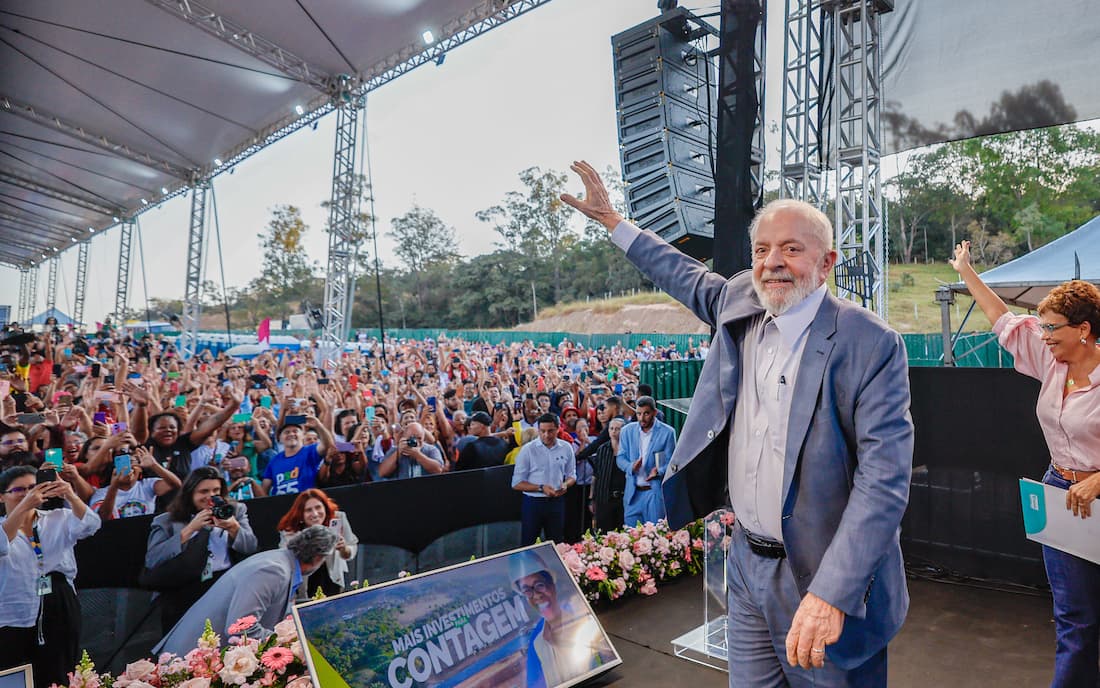
[[[287,538],[286,549],[270,549],[241,561],[184,614],[153,648],[153,656],[164,652],[184,656],[202,635],[207,619],[223,643],[229,626],[248,615],[257,619],[248,634],[266,637],[289,613],[302,579],[324,563],[336,544],[331,528],[312,525]]]

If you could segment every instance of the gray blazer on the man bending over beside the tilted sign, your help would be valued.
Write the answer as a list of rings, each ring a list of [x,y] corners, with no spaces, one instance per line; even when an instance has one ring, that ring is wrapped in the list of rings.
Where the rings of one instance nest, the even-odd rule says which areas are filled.
[[[268,634],[290,612],[290,583],[298,561],[288,549],[268,549],[232,567],[199,598],[184,618],[153,648],[153,656],[170,652],[180,657],[195,647],[207,619],[224,644],[229,626],[254,615],[258,621],[249,633]]]

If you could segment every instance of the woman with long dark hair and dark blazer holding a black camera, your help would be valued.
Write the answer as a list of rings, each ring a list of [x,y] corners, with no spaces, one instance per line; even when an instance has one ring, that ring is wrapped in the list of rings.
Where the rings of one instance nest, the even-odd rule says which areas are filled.
[[[230,566],[256,548],[248,509],[229,501],[218,469],[191,471],[148,533],[142,585],[161,591],[162,631],[167,633]]]

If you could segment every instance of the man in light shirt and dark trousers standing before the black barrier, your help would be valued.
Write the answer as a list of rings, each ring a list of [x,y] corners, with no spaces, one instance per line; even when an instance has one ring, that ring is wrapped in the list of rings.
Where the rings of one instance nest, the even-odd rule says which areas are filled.
[[[558,437],[558,416],[539,416],[539,441],[529,441],[516,455],[512,489],[524,493],[522,545],[539,533],[560,543],[565,528],[565,491],[576,482],[573,446]]]

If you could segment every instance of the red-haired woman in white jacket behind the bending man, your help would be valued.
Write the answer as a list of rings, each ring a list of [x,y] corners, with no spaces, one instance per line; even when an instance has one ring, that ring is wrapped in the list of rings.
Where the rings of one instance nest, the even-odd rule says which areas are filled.
[[[279,547],[286,539],[311,525],[324,525],[337,534],[337,546],[324,559],[324,564],[316,569],[298,588],[299,599],[310,599],[320,590],[326,597],[339,594],[344,588],[344,574],[348,563],[355,558],[359,538],[351,531],[348,516],[339,510],[337,503],[323,491],[316,488],[299,492],[290,510],[283,514],[278,522]]]

